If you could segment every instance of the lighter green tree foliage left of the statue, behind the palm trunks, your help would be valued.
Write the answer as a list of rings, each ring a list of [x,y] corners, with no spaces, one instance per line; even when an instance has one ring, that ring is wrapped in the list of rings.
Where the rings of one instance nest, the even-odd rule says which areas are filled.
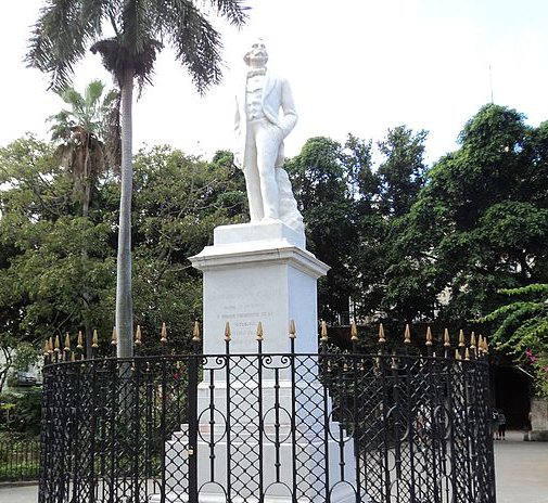
[[[0,149],[0,336],[37,343],[74,335],[86,322],[110,350],[116,292],[118,185],[103,172],[87,219],[73,201],[71,173],[51,144],[26,138]],[[145,350],[157,352],[162,322],[177,351],[201,314],[201,275],[188,260],[211,244],[213,229],[244,220],[245,182],[231,156],[213,162],[167,146],[135,159],[136,322]],[[82,261],[80,249],[88,254]],[[81,285],[89,302],[81,302]],[[184,333],[188,327],[188,333]]]

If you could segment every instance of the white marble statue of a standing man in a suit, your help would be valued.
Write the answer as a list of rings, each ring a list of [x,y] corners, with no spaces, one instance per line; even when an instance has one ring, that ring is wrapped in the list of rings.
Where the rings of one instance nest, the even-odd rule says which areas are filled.
[[[237,164],[245,175],[251,222],[281,220],[304,232],[291,182],[281,168],[283,139],[297,121],[290,85],[268,72],[268,53],[262,40],[252,44],[244,61],[250,70],[237,95]]]

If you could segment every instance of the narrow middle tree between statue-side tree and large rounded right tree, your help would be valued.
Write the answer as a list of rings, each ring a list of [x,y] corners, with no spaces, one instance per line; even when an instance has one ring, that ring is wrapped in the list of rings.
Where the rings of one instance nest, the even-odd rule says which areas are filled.
[[[405,308],[407,301],[400,304],[404,311],[394,317],[395,302],[386,292],[386,282],[393,267],[392,259],[398,253],[395,242],[404,229],[402,219],[424,184],[425,139],[425,131],[416,133],[406,126],[388,129],[386,137],[377,143],[379,166],[372,164],[371,155],[368,162],[360,164],[358,241],[353,252],[353,265],[357,283],[354,296],[357,312],[361,315],[385,319],[390,313],[399,321],[409,317]]]

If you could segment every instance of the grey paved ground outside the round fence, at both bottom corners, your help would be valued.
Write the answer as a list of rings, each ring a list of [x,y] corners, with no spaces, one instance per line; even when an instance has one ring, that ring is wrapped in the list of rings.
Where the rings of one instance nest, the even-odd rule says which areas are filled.
[[[548,503],[548,442],[510,431],[495,441],[497,503]],[[0,503],[36,503],[37,487],[0,487]]]

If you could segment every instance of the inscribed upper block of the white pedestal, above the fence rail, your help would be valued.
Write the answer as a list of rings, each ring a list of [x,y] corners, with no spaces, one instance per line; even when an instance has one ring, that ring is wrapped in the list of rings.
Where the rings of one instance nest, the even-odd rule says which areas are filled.
[[[256,328],[265,332],[265,352],[289,351],[294,320],[297,352],[317,352],[318,278],[329,267],[304,249],[304,236],[282,222],[242,223],[215,229],[214,246],[191,257],[204,274],[204,352],[225,352],[225,325],[231,351],[256,352]]]

